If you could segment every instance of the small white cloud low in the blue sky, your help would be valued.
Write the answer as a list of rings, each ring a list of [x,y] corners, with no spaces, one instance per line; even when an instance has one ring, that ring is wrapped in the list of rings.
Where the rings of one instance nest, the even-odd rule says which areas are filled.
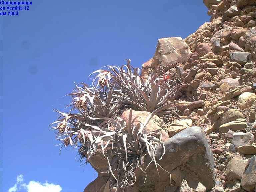
[[[11,187],[8,192],[18,192],[21,189],[25,189],[26,192],[60,192],[62,190],[60,185],[53,183],[40,183],[38,181],[29,181],[28,184],[23,183],[23,175],[17,176],[17,182]]]

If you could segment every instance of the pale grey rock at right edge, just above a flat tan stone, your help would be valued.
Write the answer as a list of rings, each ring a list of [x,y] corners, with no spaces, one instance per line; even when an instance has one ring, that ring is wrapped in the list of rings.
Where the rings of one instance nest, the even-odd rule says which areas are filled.
[[[254,136],[251,133],[238,132],[233,134],[232,144],[237,148],[242,145],[250,145],[254,141]]]

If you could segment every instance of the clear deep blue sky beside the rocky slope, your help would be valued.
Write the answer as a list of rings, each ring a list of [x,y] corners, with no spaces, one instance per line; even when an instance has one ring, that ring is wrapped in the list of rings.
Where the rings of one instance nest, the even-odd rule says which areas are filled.
[[[18,16],[0,16],[0,190],[16,184],[16,191],[37,192],[29,187],[38,184],[47,191],[52,184],[82,192],[97,173],[80,165],[76,150],[59,155],[48,127],[57,117],[52,109],[64,109],[74,82],[88,83],[102,66],[125,64],[125,58],[141,66],[157,39],[195,32],[209,21],[207,8],[201,0],[32,3]]]

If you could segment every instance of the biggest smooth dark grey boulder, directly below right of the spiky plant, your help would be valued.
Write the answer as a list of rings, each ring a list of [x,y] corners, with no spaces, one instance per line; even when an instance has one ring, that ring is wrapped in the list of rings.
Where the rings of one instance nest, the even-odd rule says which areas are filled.
[[[171,173],[171,178],[177,186],[180,186],[183,179],[188,185],[196,189],[198,183],[206,187],[206,191],[215,185],[214,158],[211,148],[200,127],[190,127],[171,137],[164,142],[166,152],[157,163],[166,171]],[[162,146],[157,147],[156,159],[161,157]],[[149,156],[145,157],[145,165],[151,161]],[[185,167],[184,167],[185,166]],[[160,183],[156,167],[151,163],[146,170],[147,181],[144,185],[143,172],[137,175],[136,187],[141,192],[155,191],[163,192],[170,184],[170,175],[158,167]],[[191,174],[192,173],[192,174]],[[193,176],[192,176],[193,175]],[[195,179],[193,181],[193,179]],[[196,183],[195,183],[196,181]]]

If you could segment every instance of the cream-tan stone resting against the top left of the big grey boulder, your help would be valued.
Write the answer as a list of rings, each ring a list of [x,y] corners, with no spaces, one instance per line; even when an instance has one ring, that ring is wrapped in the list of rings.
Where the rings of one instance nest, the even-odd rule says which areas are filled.
[[[193,121],[191,119],[180,119],[173,121],[167,128],[169,137],[181,132],[182,130],[191,127]]]

